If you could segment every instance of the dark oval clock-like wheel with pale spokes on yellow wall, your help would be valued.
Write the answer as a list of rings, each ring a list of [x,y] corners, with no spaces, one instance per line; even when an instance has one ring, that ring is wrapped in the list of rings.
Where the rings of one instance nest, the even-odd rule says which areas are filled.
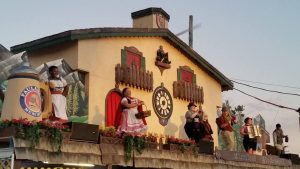
[[[163,126],[167,125],[173,112],[173,100],[170,92],[163,84],[154,90],[152,104],[160,124]]]

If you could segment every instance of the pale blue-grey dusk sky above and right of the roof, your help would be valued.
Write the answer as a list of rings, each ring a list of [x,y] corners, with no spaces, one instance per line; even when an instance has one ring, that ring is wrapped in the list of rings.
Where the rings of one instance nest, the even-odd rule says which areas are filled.
[[[194,24],[194,50],[230,79],[253,86],[300,94],[300,1],[298,0],[164,0],[164,1],[2,1],[0,44],[6,48],[62,31],[93,27],[131,27],[131,12],[161,7],[170,15],[169,29],[178,33]],[[188,36],[180,38],[188,42]],[[199,78],[201,81],[201,79]],[[274,94],[235,84],[261,99],[291,108],[299,96]],[[233,107],[245,105],[245,114],[261,114],[272,133],[281,123],[289,135],[288,151],[300,154],[299,114],[280,109],[231,90],[223,93]],[[211,122],[214,119],[210,120]]]

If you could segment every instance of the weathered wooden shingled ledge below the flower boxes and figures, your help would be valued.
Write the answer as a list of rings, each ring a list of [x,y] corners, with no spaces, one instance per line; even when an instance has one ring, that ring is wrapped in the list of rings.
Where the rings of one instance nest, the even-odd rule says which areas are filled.
[[[66,167],[65,163],[93,164],[94,169],[99,168],[173,168],[173,169],[300,169],[292,165],[288,159],[277,156],[248,155],[241,152],[215,151],[213,155],[195,154],[192,152],[164,150],[146,147],[141,154],[133,151],[131,160],[124,160],[124,146],[122,141],[89,143],[70,140],[71,133],[64,132],[61,152],[58,153],[51,140],[42,137],[39,143],[32,148],[30,142],[12,135],[13,151],[15,153],[15,168],[34,167]],[[6,135],[9,136],[9,133]],[[1,155],[0,151],[0,155]],[[47,164],[43,163],[47,162]]]

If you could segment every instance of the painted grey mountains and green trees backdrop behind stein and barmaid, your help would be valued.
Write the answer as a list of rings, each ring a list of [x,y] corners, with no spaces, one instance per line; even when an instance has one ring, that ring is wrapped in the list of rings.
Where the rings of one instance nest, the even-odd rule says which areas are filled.
[[[26,52],[12,54],[0,44],[0,112],[7,89],[7,78],[20,66],[30,66]],[[88,120],[88,97],[85,92],[85,72],[74,71],[64,59],[53,60],[36,68],[41,81],[48,81],[50,66],[57,66],[69,85],[67,115],[70,121],[86,123]]]

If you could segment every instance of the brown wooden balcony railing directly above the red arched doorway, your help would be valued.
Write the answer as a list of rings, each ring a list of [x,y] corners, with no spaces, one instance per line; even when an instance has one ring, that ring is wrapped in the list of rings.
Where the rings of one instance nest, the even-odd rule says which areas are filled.
[[[138,69],[135,65],[117,64],[115,78],[116,84],[126,84],[147,91],[153,90],[153,72]]]

